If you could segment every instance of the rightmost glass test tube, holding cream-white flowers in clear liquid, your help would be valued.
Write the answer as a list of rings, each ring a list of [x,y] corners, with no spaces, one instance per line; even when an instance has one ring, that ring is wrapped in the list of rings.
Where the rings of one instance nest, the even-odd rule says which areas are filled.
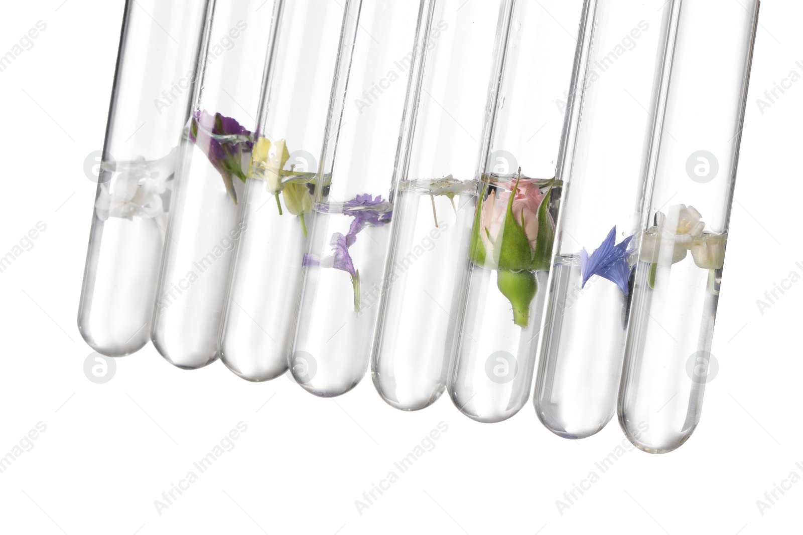
[[[651,453],[678,448],[699,422],[759,10],[672,4],[618,406],[630,441]]]

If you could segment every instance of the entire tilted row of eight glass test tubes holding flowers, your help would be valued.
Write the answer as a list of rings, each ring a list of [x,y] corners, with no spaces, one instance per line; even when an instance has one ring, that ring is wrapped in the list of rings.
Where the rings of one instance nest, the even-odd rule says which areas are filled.
[[[131,0],[81,334],[323,397],[370,370],[393,407],[447,391],[487,423],[535,382],[559,436],[618,414],[678,448],[712,359],[747,3]]]

